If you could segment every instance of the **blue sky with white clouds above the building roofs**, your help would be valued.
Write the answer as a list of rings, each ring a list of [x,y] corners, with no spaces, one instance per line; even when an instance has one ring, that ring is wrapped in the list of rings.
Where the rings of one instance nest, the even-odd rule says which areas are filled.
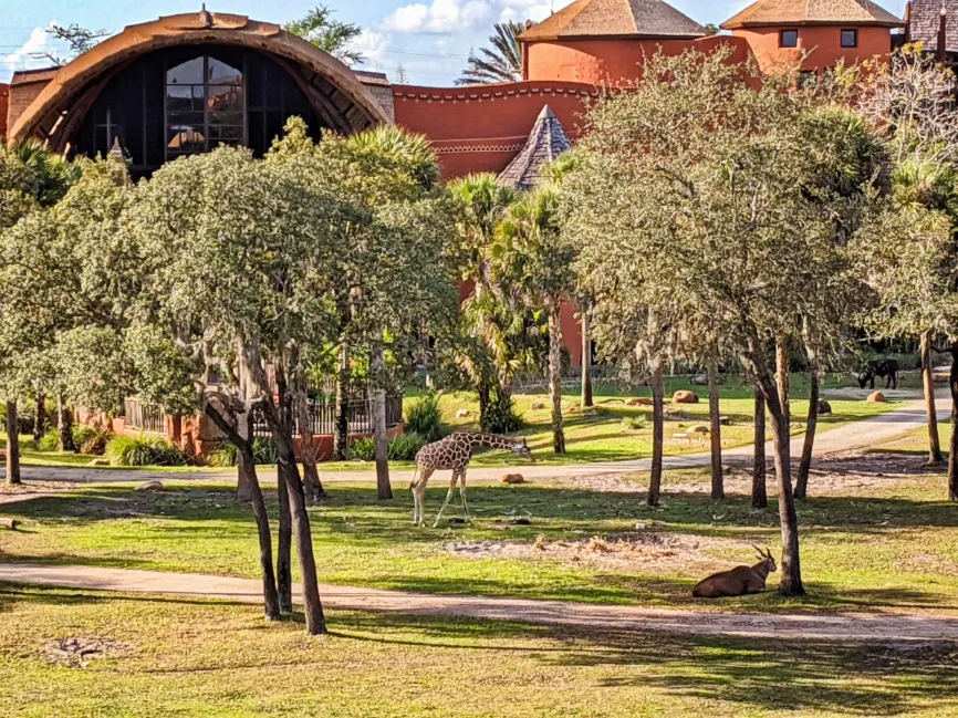
[[[363,70],[385,72],[395,81],[402,66],[407,82],[449,85],[466,64],[469,50],[486,43],[493,22],[502,19],[541,20],[571,0],[330,0],[341,20],[364,28],[357,49],[366,55]],[[671,4],[705,24],[719,23],[750,0],[674,0]],[[902,17],[905,0],[878,0]],[[65,54],[62,43],[43,32],[51,22],[118,32],[124,25],[158,15],[199,10],[197,0],[10,0],[0,14],[0,82],[14,70],[42,67],[49,61],[35,53]],[[211,0],[209,9],[246,14],[257,20],[287,22],[317,4],[316,0]]]

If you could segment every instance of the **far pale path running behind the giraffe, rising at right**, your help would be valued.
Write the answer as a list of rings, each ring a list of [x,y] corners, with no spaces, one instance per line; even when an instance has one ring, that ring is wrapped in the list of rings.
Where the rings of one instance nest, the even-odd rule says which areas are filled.
[[[937,399],[938,416],[940,420],[947,420],[950,412],[948,398]],[[925,425],[925,403],[915,400],[903,403],[884,414],[877,414],[866,419],[844,424],[827,431],[821,431],[815,437],[815,456],[822,457],[837,451],[847,451],[864,447],[878,446],[898,436]],[[792,439],[792,456],[801,452],[803,435]],[[771,444],[767,449],[771,456]],[[752,447],[740,446],[725,449],[722,457],[726,461],[751,459]],[[667,456],[664,460],[665,468],[687,469],[708,466],[710,460],[707,451],[686,454],[684,456]],[[596,476],[603,474],[626,474],[631,471],[648,471],[650,459],[633,459],[628,461],[605,461],[601,464],[573,464],[567,466],[543,466],[539,464],[522,464],[513,467],[475,467],[469,470],[469,480],[494,480],[502,474],[521,472],[527,479],[563,479],[569,477]],[[2,467],[0,467],[2,469]],[[39,467],[24,466],[21,468],[23,478],[30,480],[56,480],[76,483],[103,483],[103,482],[139,482],[150,479],[169,481],[216,479],[218,477],[233,478],[235,470],[228,469],[223,474],[211,471],[190,471],[183,474],[160,474],[142,469],[98,469],[98,468],[72,468],[72,467]],[[3,471],[0,470],[0,477]],[[323,481],[374,481],[375,469],[369,467],[362,470],[327,471],[323,474]],[[404,487],[413,478],[412,471],[392,471],[391,478],[396,487]],[[264,476],[261,480],[269,481]]]

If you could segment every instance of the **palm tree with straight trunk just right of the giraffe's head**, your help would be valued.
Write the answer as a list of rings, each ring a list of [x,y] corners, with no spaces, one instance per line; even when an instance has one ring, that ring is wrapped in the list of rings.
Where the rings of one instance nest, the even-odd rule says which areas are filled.
[[[574,252],[559,231],[559,195],[544,185],[513,204],[490,248],[493,281],[516,288],[527,306],[542,309],[549,331],[549,394],[555,454],[565,454],[562,430],[562,302],[575,288]]]

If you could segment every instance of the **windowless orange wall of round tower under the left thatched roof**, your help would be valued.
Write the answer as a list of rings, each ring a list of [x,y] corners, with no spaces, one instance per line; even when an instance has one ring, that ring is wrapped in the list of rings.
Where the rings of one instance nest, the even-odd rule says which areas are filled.
[[[622,84],[641,75],[646,58],[662,51],[681,54],[688,48],[702,52],[725,44],[732,49],[731,62],[742,62],[749,55],[748,44],[728,35],[699,40],[562,40],[528,43],[527,74],[529,80],[572,81],[593,85]]]

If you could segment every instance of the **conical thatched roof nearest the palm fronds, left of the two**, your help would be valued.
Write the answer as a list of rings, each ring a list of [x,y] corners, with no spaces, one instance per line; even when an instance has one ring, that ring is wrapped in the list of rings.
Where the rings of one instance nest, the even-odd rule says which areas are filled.
[[[700,38],[702,28],[662,0],[576,0],[532,25],[520,40]]]

